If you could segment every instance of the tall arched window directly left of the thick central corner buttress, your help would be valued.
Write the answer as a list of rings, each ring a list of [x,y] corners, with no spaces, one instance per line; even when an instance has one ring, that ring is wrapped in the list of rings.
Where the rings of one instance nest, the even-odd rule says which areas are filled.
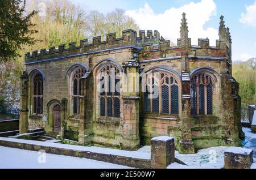
[[[108,64],[100,69],[100,115],[120,117],[119,69]]]

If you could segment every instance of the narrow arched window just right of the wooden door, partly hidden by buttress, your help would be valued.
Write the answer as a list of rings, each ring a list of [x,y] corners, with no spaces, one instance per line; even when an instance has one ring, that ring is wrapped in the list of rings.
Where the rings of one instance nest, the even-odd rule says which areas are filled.
[[[77,67],[72,73],[72,104],[73,114],[80,113],[80,100],[81,95],[81,79],[84,76],[85,70],[82,67]]]

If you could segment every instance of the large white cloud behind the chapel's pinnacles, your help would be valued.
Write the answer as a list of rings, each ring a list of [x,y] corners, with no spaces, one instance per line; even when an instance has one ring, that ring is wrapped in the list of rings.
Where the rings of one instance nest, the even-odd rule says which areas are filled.
[[[216,46],[218,29],[212,27],[205,29],[204,24],[216,15],[216,3],[213,0],[202,0],[199,3],[191,2],[179,8],[171,7],[163,14],[155,14],[154,10],[146,3],[139,10],[129,10],[126,14],[135,19],[141,29],[157,29],[164,38],[176,44],[180,37],[181,14],[187,14],[189,37],[192,45],[197,45],[197,38],[210,39],[210,45]]]

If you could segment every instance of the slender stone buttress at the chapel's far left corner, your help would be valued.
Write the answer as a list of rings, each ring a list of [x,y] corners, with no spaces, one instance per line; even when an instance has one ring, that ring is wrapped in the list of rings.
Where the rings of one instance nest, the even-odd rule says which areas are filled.
[[[28,74],[24,71],[20,76],[20,118],[19,133],[26,133],[28,128]]]

